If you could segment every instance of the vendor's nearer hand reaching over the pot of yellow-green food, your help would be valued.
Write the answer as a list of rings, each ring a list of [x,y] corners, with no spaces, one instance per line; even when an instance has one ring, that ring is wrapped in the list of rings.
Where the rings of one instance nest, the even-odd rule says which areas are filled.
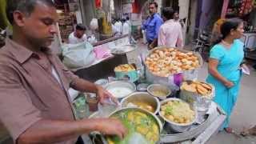
[[[119,138],[125,138],[127,131],[118,119],[102,118],[98,122],[97,130],[106,135],[118,135]]]

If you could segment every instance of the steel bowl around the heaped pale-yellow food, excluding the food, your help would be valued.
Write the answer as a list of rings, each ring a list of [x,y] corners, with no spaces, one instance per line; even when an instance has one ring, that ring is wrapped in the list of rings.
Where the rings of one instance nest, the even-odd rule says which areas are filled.
[[[166,102],[169,102],[169,101],[181,101],[181,102],[184,102],[184,101],[182,101],[179,98],[167,98],[166,100],[160,102],[160,104],[162,106],[162,105],[166,104]],[[192,122],[189,122],[189,123],[184,123],[184,124],[182,123],[182,124],[180,124],[180,123],[176,123],[176,122],[171,122],[167,118],[165,118],[161,113],[159,113],[159,115],[166,121],[166,126],[169,127],[171,130],[173,130],[174,132],[184,132],[184,131],[187,131],[187,130],[190,129],[190,127],[196,121],[197,116],[198,116],[197,110],[195,110],[195,108],[193,106],[190,106],[190,108],[192,110],[194,110],[195,116],[194,116],[194,120]]]

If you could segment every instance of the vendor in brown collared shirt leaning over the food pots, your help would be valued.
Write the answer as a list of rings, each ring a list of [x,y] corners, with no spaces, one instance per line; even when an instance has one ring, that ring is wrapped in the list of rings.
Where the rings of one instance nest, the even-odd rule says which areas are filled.
[[[9,0],[7,15],[13,36],[0,50],[0,120],[14,143],[71,144],[81,134],[98,130],[123,138],[116,119],[75,121],[69,87],[112,98],[101,86],[72,74],[50,53],[57,13],[52,0]]]

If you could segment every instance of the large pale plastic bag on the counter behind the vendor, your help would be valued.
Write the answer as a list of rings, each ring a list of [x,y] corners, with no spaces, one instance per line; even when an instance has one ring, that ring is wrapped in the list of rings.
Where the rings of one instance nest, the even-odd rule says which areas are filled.
[[[70,69],[89,66],[95,60],[93,46],[89,42],[62,46],[63,63]]]

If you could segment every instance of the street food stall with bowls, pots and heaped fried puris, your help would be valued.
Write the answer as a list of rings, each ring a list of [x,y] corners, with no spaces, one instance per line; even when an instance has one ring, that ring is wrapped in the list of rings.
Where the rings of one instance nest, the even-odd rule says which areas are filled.
[[[111,100],[97,104],[94,94],[75,99],[79,118],[118,118],[128,129],[123,140],[94,132],[82,137],[86,143],[205,143],[218,132],[226,114],[212,101],[214,86],[197,80],[199,54],[158,47],[141,66],[121,63],[112,69],[114,78],[95,82],[118,99],[118,106]]]

